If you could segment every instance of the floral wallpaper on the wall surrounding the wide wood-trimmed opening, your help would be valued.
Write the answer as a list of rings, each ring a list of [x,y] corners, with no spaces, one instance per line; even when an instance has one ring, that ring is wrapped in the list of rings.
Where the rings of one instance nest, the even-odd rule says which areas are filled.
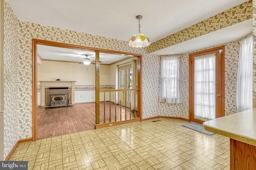
[[[82,45],[115,51],[125,51],[129,53],[143,54],[142,57],[142,93],[143,93],[143,118],[153,117],[158,114],[158,103],[152,102],[158,96],[158,85],[154,84],[158,80],[158,74],[154,74],[154,68],[158,57],[148,55],[144,49],[135,49],[128,46],[126,41],[90,35],[86,33],[69,31],[34,23],[19,21],[19,67],[18,67],[18,96],[19,96],[19,139],[32,137],[32,38],[56,41],[61,43]],[[149,76],[150,75],[150,76]],[[152,88],[156,87],[156,88]],[[147,107],[150,106],[150,107]]]

